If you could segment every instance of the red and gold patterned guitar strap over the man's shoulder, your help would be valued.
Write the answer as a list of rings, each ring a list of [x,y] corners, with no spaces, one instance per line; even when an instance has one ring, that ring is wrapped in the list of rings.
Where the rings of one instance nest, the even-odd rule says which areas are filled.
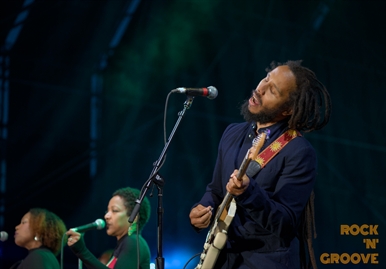
[[[293,129],[287,130],[275,141],[273,141],[271,145],[257,155],[255,161],[261,165],[261,168],[263,168],[282,148],[285,147],[285,145],[288,144],[288,142],[297,136],[302,136],[299,131]]]

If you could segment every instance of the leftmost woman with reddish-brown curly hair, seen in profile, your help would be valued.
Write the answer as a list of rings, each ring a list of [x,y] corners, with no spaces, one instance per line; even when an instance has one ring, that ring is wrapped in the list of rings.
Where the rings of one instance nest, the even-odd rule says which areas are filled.
[[[15,244],[26,248],[28,255],[11,269],[59,269],[56,256],[66,230],[54,213],[43,208],[30,209],[15,227]]]

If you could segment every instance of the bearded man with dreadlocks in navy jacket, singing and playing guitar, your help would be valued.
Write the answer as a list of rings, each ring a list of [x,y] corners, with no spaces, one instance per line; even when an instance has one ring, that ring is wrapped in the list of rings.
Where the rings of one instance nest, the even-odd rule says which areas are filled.
[[[305,266],[298,231],[315,184],[317,159],[300,132],[324,127],[330,107],[326,88],[301,61],[272,64],[241,108],[246,122],[230,124],[224,131],[212,181],[190,212],[191,224],[199,231],[216,221],[215,212],[227,194],[237,205],[224,231],[221,252],[213,266],[203,269]],[[238,178],[252,140],[267,130],[269,139],[256,160],[263,168]],[[283,146],[283,141],[288,143]],[[203,255],[202,260],[205,258]],[[316,267],[314,259],[312,265]]]

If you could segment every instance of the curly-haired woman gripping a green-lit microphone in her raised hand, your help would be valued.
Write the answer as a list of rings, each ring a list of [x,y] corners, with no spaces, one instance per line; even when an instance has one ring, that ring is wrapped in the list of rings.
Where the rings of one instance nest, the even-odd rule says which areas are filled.
[[[80,233],[71,229],[67,231],[68,246],[88,269],[150,268],[150,249],[141,235],[142,229],[150,217],[150,202],[147,197],[142,201],[138,216],[133,224],[130,226],[128,222],[139,194],[139,190],[127,187],[115,191],[110,199],[105,214],[106,233],[117,238],[117,246],[106,265],[87,249]]]

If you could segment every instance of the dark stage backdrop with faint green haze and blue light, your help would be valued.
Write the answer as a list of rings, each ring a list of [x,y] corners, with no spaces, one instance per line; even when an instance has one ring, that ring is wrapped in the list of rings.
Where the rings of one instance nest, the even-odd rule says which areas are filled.
[[[270,62],[290,59],[303,59],[333,101],[329,125],[306,134],[319,159],[319,268],[386,268],[385,13],[385,1],[371,0],[1,1],[0,229],[10,235],[1,268],[26,255],[13,234],[29,208],[71,228],[103,218],[117,188],[141,188],[164,147],[168,93],[213,85],[218,97],[194,99],[160,170],[165,266],[183,268],[205,241],[188,214],[222,132],[243,121],[239,106]],[[185,99],[169,98],[167,136]],[[149,199],[143,234],[154,262],[157,189]],[[376,233],[340,235],[341,225],[364,224]],[[85,240],[96,256],[116,242],[96,230]],[[378,253],[379,263],[322,263],[331,253]],[[65,247],[64,268],[77,267]]]

